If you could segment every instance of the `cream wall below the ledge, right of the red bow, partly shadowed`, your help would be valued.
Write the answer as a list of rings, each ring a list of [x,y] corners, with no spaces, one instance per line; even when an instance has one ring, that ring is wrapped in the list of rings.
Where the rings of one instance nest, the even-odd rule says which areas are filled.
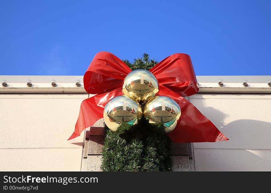
[[[271,94],[198,93],[189,99],[230,139],[193,143],[196,171],[271,171]]]

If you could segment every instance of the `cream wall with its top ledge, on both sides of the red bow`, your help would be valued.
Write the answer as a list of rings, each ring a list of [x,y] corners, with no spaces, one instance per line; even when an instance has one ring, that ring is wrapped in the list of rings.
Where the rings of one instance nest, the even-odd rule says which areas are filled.
[[[88,97],[83,85],[74,82],[82,83],[83,76],[1,78],[8,86],[0,86],[0,171],[80,171],[84,132],[67,139]],[[223,87],[217,85],[219,78],[197,76],[200,92],[209,93],[189,100],[230,140],[193,143],[196,171],[271,171],[271,77],[225,76]],[[243,87],[243,78],[253,83]],[[27,79],[32,87],[26,86]],[[51,79],[57,87],[51,87]]]

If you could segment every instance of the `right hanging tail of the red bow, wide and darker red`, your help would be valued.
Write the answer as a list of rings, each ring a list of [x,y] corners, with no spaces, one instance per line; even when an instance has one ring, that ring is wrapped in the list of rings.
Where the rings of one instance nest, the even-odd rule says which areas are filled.
[[[181,117],[175,129],[168,134],[174,143],[219,142],[229,140],[188,100],[175,100],[181,108]]]

